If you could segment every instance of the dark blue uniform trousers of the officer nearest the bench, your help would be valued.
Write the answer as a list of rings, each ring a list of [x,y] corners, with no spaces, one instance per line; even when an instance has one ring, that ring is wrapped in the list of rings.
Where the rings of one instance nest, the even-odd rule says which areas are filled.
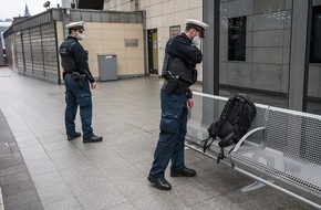
[[[172,171],[185,168],[184,147],[187,124],[187,97],[186,93],[174,94],[166,92],[166,84],[161,90],[161,133],[154,153],[154,161],[149,175],[155,178],[164,178],[165,169],[172,160]]]

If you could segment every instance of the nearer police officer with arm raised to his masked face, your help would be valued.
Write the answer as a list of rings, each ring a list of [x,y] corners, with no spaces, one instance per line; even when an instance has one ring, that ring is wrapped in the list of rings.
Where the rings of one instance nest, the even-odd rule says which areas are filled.
[[[197,81],[197,63],[203,60],[196,46],[208,25],[187,19],[185,32],[169,39],[165,48],[162,76],[165,83],[161,90],[161,133],[154,154],[148,181],[161,190],[170,190],[165,179],[165,169],[172,160],[170,177],[194,177],[196,171],[184,162],[184,143],[188,108],[194,107],[189,86]]]

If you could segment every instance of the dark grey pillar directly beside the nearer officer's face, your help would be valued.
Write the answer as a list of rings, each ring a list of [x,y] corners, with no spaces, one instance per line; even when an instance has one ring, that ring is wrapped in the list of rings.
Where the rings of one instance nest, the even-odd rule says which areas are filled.
[[[203,92],[219,95],[219,0],[203,0],[203,21],[209,25],[203,41]]]

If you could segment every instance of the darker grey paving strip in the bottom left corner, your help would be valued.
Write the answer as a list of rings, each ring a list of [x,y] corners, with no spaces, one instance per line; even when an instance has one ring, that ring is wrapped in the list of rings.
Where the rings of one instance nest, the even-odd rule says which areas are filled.
[[[0,130],[0,183],[6,209],[43,209],[14,136],[1,111]],[[3,202],[0,203],[0,209],[3,209]]]

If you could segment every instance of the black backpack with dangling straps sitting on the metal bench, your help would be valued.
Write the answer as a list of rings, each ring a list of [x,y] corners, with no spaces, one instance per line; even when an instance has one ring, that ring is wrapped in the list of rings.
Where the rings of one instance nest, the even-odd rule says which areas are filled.
[[[220,159],[224,159],[224,148],[237,144],[240,140],[250,128],[256,115],[256,105],[247,95],[238,94],[230,97],[225,104],[219,119],[213,123],[207,129],[209,137],[201,141],[204,153],[218,136],[221,139],[218,143],[220,153],[217,162],[219,162]],[[213,140],[208,144],[210,138],[213,138]]]

